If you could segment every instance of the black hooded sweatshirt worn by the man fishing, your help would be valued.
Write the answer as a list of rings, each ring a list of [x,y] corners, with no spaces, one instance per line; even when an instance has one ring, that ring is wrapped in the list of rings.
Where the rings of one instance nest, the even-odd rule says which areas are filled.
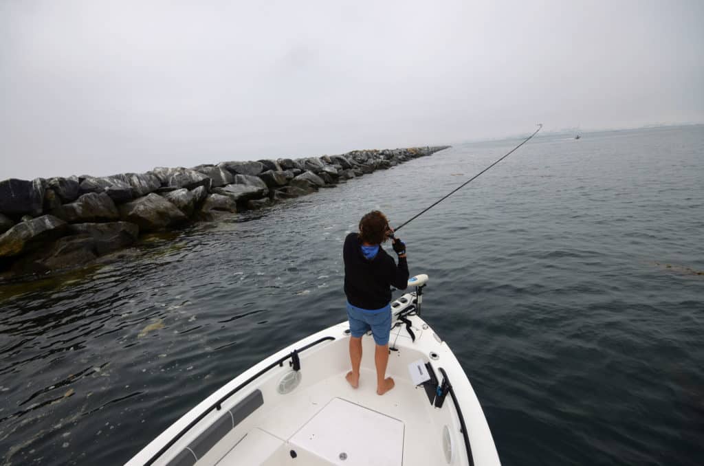
[[[362,253],[362,243],[357,233],[345,238],[342,257],[345,262],[345,294],[352,306],[363,309],[380,309],[391,302],[391,289],[408,287],[408,263],[406,258],[394,259],[379,246],[372,260]]]

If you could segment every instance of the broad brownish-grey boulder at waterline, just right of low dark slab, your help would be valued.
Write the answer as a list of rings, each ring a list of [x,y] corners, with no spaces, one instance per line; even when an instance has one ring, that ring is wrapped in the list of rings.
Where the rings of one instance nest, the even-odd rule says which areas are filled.
[[[153,193],[122,204],[120,217],[122,220],[137,224],[144,232],[171,227],[188,220],[176,206]]]

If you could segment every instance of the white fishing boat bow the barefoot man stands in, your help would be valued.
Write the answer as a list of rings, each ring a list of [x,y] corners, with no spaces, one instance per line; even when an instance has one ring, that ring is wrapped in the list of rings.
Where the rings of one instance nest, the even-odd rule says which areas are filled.
[[[420,317],[426,282],[411,278],[415,291],[392,303],[386,374],[396,386],[383,396],[371,336],[362,339],[358,389],[346,381],[349,327],[341,322],[222,386],[127,466],[499,465],[467,375]]]

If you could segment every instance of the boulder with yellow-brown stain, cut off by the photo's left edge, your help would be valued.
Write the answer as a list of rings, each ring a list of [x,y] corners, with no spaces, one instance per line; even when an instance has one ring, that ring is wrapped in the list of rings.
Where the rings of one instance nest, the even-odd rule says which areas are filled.
[[[61,237],[66,227],[66,222],[54,215],[18,223],[0,236],[0,258],[18,256],[45,241]]]

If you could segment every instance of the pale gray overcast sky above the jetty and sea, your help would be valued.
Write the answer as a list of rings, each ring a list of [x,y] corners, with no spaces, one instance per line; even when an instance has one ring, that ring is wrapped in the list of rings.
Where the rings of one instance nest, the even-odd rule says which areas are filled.
[[[703,18],[698,0],[0,0],[0,180],[703,122]]]

